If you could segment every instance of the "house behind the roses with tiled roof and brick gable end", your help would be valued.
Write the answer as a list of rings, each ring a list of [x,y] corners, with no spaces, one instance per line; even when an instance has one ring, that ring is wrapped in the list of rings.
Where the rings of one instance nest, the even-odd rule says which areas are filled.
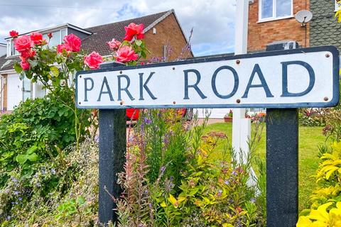
[[[191,50],[183,51],[188,40],[174,10],[91,28],[80,28],[65,23],[38,32],[42,33],[44,38],[47,38],[48,33],[53,33],[49,43],[51,46],[62,43],[65,35],[73,33],[82,39],[82,48],[85,51],[96,51],[102,56],[109,56],[111,51],[107,42],[112,38],[123,40],[124,26],[133,22],[144,23],[146,46],[151,52],[147,59],[175,60],[181,52],[184,52],[183,58],[193,57]],[[6,38],[6,41],[6,55],[0,57],[0,111],[12,111],[21,101],[43,97],[46,93],[39,82],[32,83],[28,79],[19,79],[19,75],[13,70],[13,62],[9,63],[9,60],[18,60],[18,52],[13,48],[13,38]]]

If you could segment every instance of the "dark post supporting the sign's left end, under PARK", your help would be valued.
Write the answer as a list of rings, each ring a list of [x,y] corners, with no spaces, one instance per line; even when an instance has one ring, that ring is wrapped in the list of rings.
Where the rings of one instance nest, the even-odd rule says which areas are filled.
[[[101,65],[101,69],[121,66]],[[123,172],[126,154],[126,110],[99,109],[99,223],[117,221],[114,198],[121,195],[117,173]]]

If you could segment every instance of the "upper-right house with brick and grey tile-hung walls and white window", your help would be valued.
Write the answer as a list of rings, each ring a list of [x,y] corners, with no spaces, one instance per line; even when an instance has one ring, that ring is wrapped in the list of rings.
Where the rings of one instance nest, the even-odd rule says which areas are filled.
[[[335,45],[341,48],[341,23],[335,12],[338,0],[254,0],[249,4],[248,51],[259,52],[274,42],[295,40],[300,47]],[[313,18],[305,26],[296,21],[298,11]]]

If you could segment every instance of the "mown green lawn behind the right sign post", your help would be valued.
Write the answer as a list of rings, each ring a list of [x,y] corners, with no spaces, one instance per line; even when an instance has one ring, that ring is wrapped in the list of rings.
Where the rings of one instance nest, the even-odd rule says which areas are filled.
[[[232,123],[214,123],[207,126],[206,132],[222,131],[226,133],[229,141],[232,140]],[[266,128],[262,133],[261,141],[256,149],[256,154],[265,159]],[[322,127],[303,127],[299,129],[299,209],[308,208],[309,196],[315,189],[315,175],[318,168],[318,145],[325,142]],[[219,147],[222,149],[222,146]],[[219,149],[218,148],[218,149]],[[217,154],[220,155],[220,154]]]

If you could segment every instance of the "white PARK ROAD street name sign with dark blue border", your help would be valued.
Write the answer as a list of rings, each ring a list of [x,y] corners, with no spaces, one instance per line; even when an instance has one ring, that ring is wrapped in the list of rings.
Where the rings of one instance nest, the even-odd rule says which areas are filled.
[[[339,52],[325,46],[77,72],[77,107],[298,108],[339,101]]]

